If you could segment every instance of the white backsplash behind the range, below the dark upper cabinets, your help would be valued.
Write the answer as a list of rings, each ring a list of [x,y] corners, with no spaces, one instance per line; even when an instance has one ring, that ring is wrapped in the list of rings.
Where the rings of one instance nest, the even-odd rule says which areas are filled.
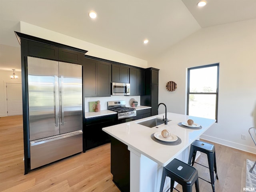
[[[110,97],[85,97],[84,98],[84,105],[85,105],[85,112],[89,112],[89,102],[91,101],[100,101],[100,110],[107,110],[108,101],[120,101],[125,100],[126,107],[130,106],[130,99],[135,99],[138,101],[138,106],[140,106],[140,96],[124,96],[124,95],[111,95]]]

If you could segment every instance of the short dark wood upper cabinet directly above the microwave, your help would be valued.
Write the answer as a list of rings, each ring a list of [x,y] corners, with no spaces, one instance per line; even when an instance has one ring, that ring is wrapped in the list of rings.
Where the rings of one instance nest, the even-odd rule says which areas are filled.
[[[129,67],[112,64],[112,82],[129,83]]]

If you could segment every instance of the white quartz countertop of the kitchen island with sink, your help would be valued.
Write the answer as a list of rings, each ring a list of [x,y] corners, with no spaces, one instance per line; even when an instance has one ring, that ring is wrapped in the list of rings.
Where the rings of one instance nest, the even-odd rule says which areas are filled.
[[[138,153],[150,158],[160,166],[166,166],[171,160],[185,150],[194,140],[199,138],[200,135],[203,134],[215,122],[215,120],[212,119],[198,118],[168,112],[167,118],[171,121],[169,121],[167,125],[161,124],[157,126],[158,128],[149,128],[137,124],[138,122],[150,120],[155,117],[162,118],[163,115],[165,114],[159,114],[132,122],[109,126],[102,128],[102,130],[120,140]],[[202,128],[196,130],[178,126],[179,122],[187,122],[188,119],[194,120],[194,123],[201,125]],[[170,146],[160,144],[152,140],[150,137],[151,134],[161,132],[164,129],[167,129],[172,134],[178,136],[182,140],[181,144]]]

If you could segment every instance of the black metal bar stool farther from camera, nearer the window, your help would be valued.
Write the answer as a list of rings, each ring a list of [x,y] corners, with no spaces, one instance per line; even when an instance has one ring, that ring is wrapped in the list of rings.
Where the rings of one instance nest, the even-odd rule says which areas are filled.
[[[202,164],[199,164],[199,163],[195,162],[197,151],[200,151],[202,153],[207,154],[209,167],[206,167]],[[192,164],[191,164],[191,160],[192,160]],[[212,184],[212,191],[215,192],[214,182],[215,182],[215,179],[218,179],[218,174],[217,174],[217,168],[216,168],[216,156],[215,156],[215,147],[214,147],[214,145],[210,144],[210,143],[207,143],[207,142],[195,140],[190,145],[190,152],[189,152],[189,157],[188,157],[188,164],[191,164],[193,166],[194,163],[202,165],[206,168],[209,168],[211,182],[208,182],[207,180],[205,180],[201,177],[199,177],[199,178],[201,178],[202,180],[205,180],[206,182]],[[216,178],[214,178],[214,172],[216,174]]]

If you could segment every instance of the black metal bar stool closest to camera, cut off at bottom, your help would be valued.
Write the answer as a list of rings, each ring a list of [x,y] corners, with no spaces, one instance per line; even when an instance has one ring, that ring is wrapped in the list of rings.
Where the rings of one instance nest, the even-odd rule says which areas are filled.
[[[198,172],[196,168],[186,164],[178,159],[172,160],[168,165],[163,167],[160,192],[164,189],[166,176],[171,179],[170,191],[173,191],[174,182],[182,185],[183,192],[192,192],[192,186],[195,184],[196,192],[199,192]],[[169,190],[169,189],[168,189]]]

